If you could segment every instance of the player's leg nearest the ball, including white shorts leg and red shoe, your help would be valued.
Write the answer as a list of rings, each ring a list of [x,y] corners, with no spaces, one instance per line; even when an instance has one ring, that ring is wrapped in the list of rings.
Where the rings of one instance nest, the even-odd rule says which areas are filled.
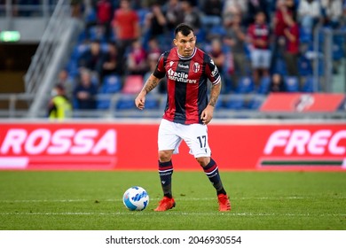
[[[168,120],[161,120],[158,134],[159,146],[159,175],[163,198],[154,211],[166,211],[176,205],[172,196],[172,155],[178,152],[181,138],[175,135],[174,123]]]

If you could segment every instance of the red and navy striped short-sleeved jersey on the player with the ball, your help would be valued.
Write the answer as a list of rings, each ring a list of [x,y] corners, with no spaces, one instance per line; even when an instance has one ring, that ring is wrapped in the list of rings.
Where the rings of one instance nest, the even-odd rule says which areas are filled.
[[[177,48],[161,54],[153,75],[167,77],[167,104],[163,119],[182,124],[201,122],[201,112],[208,105],[208,81],[221,82],[214,61],[195,48],[190,57],[182,57]]]

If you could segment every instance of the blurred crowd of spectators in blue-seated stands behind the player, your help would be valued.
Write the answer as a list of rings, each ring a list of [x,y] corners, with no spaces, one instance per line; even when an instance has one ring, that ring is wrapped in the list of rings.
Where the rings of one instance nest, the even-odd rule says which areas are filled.
[[[97,108],[95,96],[106,92],[110,78],[120,83],[114,89],[120,92],[130,76],[144,82],[181,22],[194,28],[197,46],[214,59],[223,94],[236,91],[244,77],[255,88],[265,78],[267,92],[286,91],[286,76],[302,81],[312,74],[303,74],[301,66],[314,28],[346,23],[344,0],[74,0],[72,5],[85,29],[59,83],[79,109]],[[165,92],[165,84],[156,90]]]

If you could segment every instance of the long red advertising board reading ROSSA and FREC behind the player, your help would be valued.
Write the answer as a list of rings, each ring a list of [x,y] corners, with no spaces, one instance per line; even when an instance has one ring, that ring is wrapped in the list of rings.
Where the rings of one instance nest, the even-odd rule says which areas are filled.
[[[159,123],[0,123],[0,169],[156,170]],[[346,122],[209,124],[224,170],[344,170]],[[180,170],[200,170],[185,143]]]

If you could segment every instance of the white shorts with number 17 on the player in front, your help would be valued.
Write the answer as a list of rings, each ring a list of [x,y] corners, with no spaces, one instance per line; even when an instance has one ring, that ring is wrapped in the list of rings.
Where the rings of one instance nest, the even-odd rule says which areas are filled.
[[[174,150],[179,153],[179,145],[185,141],[194,158],[210,157],[208,128],[202,124],[180,124],[162,119],[159,127],[159,151]]]

